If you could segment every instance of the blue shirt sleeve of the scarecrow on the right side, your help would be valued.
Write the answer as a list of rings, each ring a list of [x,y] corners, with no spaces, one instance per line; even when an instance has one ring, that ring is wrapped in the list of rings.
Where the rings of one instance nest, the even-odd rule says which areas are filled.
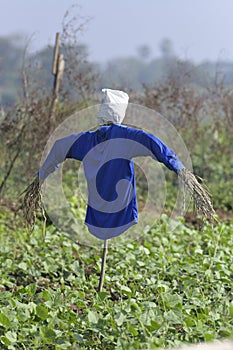
[[[156,136],[143,130],[136,130],[134,132],[134,140],[145,146],[145,154],[138,154],[138,156],[151,155],[152,158],[163,163],[176,174],[178,174],[179,170],[185,168],[176,153]]]

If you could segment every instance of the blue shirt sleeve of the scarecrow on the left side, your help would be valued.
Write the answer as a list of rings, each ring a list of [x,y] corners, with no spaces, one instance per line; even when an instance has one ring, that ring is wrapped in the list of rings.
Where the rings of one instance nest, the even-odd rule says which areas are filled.
[[[81,134],[72,134],[55,141],[38,172],[41,182],[59,168],[60,164],[67,158],[70,148],[80,136]]]

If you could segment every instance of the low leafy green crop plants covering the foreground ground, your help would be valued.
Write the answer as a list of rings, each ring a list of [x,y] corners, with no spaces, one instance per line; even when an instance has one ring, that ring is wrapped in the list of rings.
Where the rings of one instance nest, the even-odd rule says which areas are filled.
[[[13,219],[13,218],[12,218]],[[0,217],[1,349],[155,349],[233,336],[233,222],[201,231],[164,215],[140,241],[100,247]],[[111,244],[112,242],[112,244]]]

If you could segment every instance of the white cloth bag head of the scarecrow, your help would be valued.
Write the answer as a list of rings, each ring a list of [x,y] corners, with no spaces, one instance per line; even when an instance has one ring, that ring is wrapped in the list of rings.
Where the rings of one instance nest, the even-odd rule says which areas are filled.
[[[125,117],[129,96],[120,90],[102,89],[102,92],[103,98],[98,114],[99,124],[107,122],[121,124]]]

